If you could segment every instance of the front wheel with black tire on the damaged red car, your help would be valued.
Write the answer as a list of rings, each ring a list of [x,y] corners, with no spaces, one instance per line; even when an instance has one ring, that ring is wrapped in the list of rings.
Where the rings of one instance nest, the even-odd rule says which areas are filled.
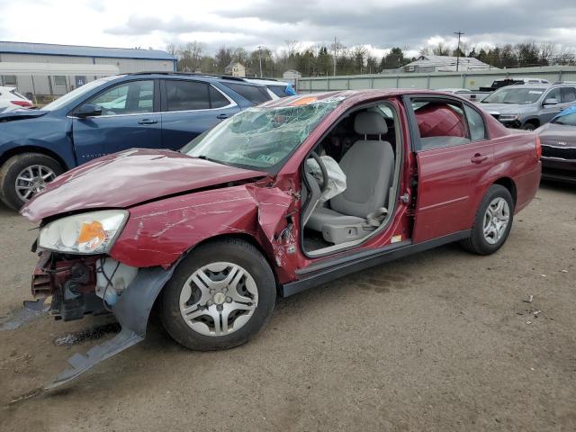
[[[234,282],[241,272],[235,273],[234,267],[226,265],[246,272],[238,284]],[[202,279],[194,276],[201,272]],[[204,276],[209,278],[208,284]],[[221,281],[229,277],[231,284]],[[212,288],[210,293],[208,287]],[[162,293],[160,320],[168,334],[184,347],[200,351],[228,349],[244,344],[266,325],[275,300],[275,276],[265,257],[245,241],[224,238],[198,247],[177,266]],[[184,320],[188,312],[186,316],[193,318]]]

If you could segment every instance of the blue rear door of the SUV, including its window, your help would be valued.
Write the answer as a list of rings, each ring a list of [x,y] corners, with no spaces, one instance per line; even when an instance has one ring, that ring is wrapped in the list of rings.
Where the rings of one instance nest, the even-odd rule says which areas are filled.
[[[162,145],[173,150],[228,119],[240,109],[211,84],[190,79],[162,80]]]

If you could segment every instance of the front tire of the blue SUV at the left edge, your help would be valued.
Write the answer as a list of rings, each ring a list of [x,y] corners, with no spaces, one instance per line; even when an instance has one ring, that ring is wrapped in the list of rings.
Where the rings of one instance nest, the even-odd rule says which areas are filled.
[[[36,177],[33,176],[39,173],[40,166],[41,173],[51,173],[46,180],[40,181],[41,175],[37,175]],[[0,200],[15,211],[20,210],[23,204],[30,200],[30,198],[35,194],[32,192],[28,199],[23,199],[21,194],[24,193],[23,189],[17,189],[16,187],[17,178],[19,178],[27,168],[31,168],[31,179],[36,178],[37,180],[35,183],[20,180],[19,184],[23,186],[27,184],[32,186],[33,184],[33,187],[38,188],[38,190],[64,172],[64,169],[56,160],[40,153],[23,153],[6,160],[4,165],[0,168]],[[19,191],[21,193],[19,193]]]

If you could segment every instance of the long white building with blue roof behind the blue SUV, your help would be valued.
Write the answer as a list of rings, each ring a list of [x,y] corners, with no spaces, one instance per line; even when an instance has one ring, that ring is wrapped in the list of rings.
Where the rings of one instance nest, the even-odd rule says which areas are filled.
[[[174,56],[157,49],[0,41],[0,85],[27,95],[57,96],[102,76],[175,66]]]

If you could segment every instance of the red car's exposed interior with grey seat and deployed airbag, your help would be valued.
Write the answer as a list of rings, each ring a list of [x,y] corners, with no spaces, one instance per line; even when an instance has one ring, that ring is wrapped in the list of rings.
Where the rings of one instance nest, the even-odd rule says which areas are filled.
[[[356,246],[392,219],[401,169],[392,105],[348,112],[302,166],[303,249],[320,256]]]

